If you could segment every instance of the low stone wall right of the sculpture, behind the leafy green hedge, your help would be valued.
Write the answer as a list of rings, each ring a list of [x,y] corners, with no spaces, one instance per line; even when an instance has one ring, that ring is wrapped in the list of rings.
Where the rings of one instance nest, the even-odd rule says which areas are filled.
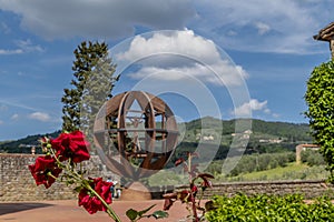
[[[176,190],[183,190],[186,186],[178,186]],[[334,199],[334,185],[327,184],[325,181],[273,181],[273,182],[233,182],[214,184],[212,189],[205,191],[204,198],[212,195],[233,196],[236,193],[252,194],[275,194],[285,195],[291,193],[299,193],[305,199],[318,198],[327,195]]]

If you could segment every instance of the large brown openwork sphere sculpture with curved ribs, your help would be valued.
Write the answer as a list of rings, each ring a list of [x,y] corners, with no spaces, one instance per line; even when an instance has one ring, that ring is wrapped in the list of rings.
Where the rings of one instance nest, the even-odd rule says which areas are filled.
[[[104,163],[118,175],[138,180],[168,162],[177,144],[177,123],[169,107],[143,91],[117,94],[105,103],[94,125]]]

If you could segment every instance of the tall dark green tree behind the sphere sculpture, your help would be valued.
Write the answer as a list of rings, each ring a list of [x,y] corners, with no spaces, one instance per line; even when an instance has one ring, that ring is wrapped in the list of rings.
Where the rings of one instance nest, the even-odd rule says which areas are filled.
[[[112,74],[116,64],[108,57],[108,46],[99,42],[81,42],[75,50],[72,89],[65,89],[61,102],[62,130],[73,131],[81,129],[90,134],[95,114],[108,98],[118,77]]]

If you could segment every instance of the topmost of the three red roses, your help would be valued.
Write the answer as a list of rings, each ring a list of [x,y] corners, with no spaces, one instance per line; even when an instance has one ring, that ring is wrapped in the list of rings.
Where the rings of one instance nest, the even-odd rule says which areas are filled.
[[[57,151],[56,155],[60,161],[70,158],[75,163],[79,163],[90,158],[87,149],[89,143],[85,140],[85,135],[80,131],[61,133],[58,138],[50,140],[50,143]]]

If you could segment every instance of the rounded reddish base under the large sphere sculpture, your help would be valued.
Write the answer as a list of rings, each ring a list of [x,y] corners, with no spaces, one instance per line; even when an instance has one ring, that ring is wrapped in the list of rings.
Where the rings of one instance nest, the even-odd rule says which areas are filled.
[[[134,182],[121,191],[120,201],[151,200],[150,191],[140,182]]]

